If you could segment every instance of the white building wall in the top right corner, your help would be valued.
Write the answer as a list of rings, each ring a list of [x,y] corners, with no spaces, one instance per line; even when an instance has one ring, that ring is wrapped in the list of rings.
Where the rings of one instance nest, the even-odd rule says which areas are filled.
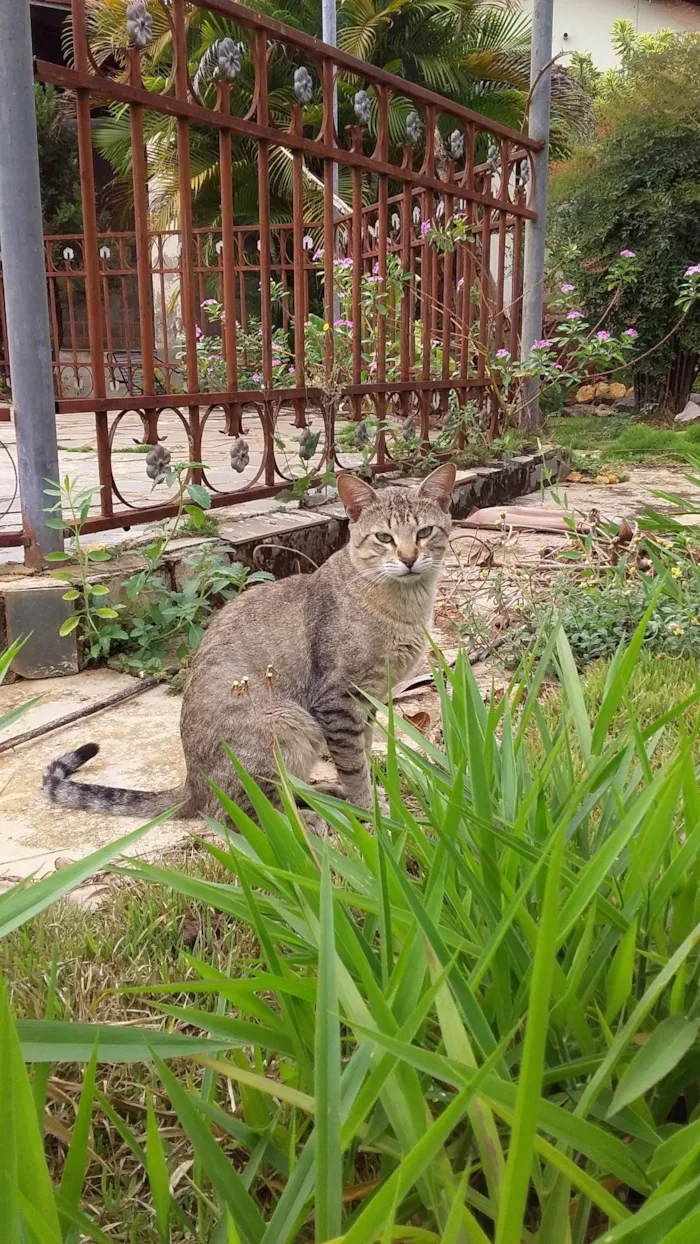
[[[532,9],[531,0],[522,4]],[[613,68],[617,57],[610,31],[619,17],[640,35],[664,27],[678,34],[700,31],[700,4],[688,0],[555,0],[553,51],[591,52],[599,70]]]

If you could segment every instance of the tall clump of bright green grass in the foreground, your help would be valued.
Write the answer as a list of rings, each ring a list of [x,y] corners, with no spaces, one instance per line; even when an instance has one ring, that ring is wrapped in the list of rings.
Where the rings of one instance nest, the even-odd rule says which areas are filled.
[[[276,809],[241,771],[257,821],[221,795],[203,845],[223,880],[128,865],[241,924],[256,954],[224,972],[204,943],[188,979],[124,982],[160,1026],[51,1018],[60,977],[45,1020],[2,1000],[2,1239],[698,1240],[700,791],[684,723],[700,690],[637,722],[645,621],[592,719],[556,628],[486,705],[467,662],[436,654],[443,743],[407,722],[399,738],[389,708],[371,819],[286,776]],[[538,703],[553,664],[557,718]],[[76,1062],[56,1152],[52,1065],[76,1080]],[[143,1074],[111,1100],[122,1062]],[[139,1189],[138,1237],[103,1229],[96,1166],[103,1188]]]

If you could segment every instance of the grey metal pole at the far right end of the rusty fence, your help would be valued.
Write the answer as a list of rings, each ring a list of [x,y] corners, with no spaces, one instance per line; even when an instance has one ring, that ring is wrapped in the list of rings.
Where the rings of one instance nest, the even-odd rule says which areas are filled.
[[[535,0],[532,10],[532,52],[530,57],[528,134],[545,143],[533,158],[536,220],[525,226],[525,265],[522,295],[521,352],[526,357],[532,343],[542,336],[545,311],[545,244],[547,234],[547,173],[550,163],[550,106],[552,100],[552,70],[542,70],[552,58],[553,0]],[[540,77],[540,75],[542,75]],[[541,422],[540,382],[530,381],[525,392],[526,406],[521,423],[531,428]]]

